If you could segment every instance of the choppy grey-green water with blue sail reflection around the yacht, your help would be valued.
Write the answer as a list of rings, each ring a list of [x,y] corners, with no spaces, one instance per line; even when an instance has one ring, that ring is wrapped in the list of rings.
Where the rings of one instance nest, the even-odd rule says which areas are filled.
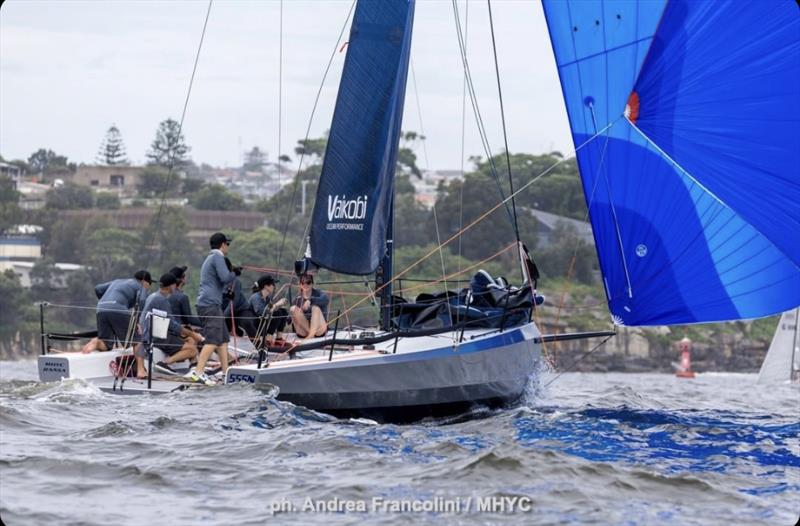
[[[122,397],[35,378],[32,362],[0,363],[9,525],[790,525],[800,515],[800,390],[755,375],[576,373],[546,387],[545,376],[520,407],[409,426],[337,420],[246,386]]]

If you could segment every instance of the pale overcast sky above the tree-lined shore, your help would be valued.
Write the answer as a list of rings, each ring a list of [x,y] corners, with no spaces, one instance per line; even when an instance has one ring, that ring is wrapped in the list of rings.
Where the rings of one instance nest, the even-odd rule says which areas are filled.
[[[280,5],[278,0],[213,3],[184,123],[195,162],[238,166],[242,152],[254,145],[275,159]],[[283,2],[281,149],[293,159],[350,5],[350,0]],[[3,2],[0,154],[27,158],[45,147],[91,163],[115,123],[131,161],[142,162],[158,123],[180,118],[207,6],[195,0]],[[464,0],[459,8],[463,22]],[[509,149],[570,151],[541,5],[494,0],[492,10]],[[503,136],[486,2],[469,3],[467,45],[480,109],[497,152]],[[311,137],[330,127],[344,56],[334,58]],[[418,148],[421,167],[457,169],[463,69],[449,0],[417,1],[411,60],[417,92],[409,74],[403,129],[424,129],[428,161]],[[476,154],[483,150],[468,110],[465,157]]]

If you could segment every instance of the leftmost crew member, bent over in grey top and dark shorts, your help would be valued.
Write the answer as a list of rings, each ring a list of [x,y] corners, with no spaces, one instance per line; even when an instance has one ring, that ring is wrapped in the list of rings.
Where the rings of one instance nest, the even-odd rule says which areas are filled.
[[[97,338],[92,338],[81,352],[108,351],[116,342],[127,345],[134,335],[131,309],[144,306],[147,289],[153,283],[150,273],[139,270],[133,279],[115,279],[94,288],[97,302]]]

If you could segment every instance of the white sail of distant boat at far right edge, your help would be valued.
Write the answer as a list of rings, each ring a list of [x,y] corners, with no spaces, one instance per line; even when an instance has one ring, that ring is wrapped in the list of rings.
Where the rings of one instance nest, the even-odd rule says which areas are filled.
[[[758,372],[758,383],[800,381],[800,308],[784,312]]]

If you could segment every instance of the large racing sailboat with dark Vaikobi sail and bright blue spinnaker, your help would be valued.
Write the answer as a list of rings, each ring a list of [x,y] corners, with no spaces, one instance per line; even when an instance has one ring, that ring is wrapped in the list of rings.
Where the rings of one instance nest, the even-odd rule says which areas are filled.
[[[545,0],[544,9],[614,323],[734,320],[800,304],[796,6]],[[535,374],[553,336],[531,321],[536,268],[521,242],[515,322],[463,324],[452,342],[441,335],[465,316],[451,312],[444,329],[399,323],[402,308],[419,308],[391,294],[413,15],[413,0],[356,8],[300,265],[377,272],[381,326],[299,349],[329,352],[231,367],[228,383],[277,385],[280,397],[313,409],[385,416],[508,402]],[[512,293],[490,279],[487,289]]]

